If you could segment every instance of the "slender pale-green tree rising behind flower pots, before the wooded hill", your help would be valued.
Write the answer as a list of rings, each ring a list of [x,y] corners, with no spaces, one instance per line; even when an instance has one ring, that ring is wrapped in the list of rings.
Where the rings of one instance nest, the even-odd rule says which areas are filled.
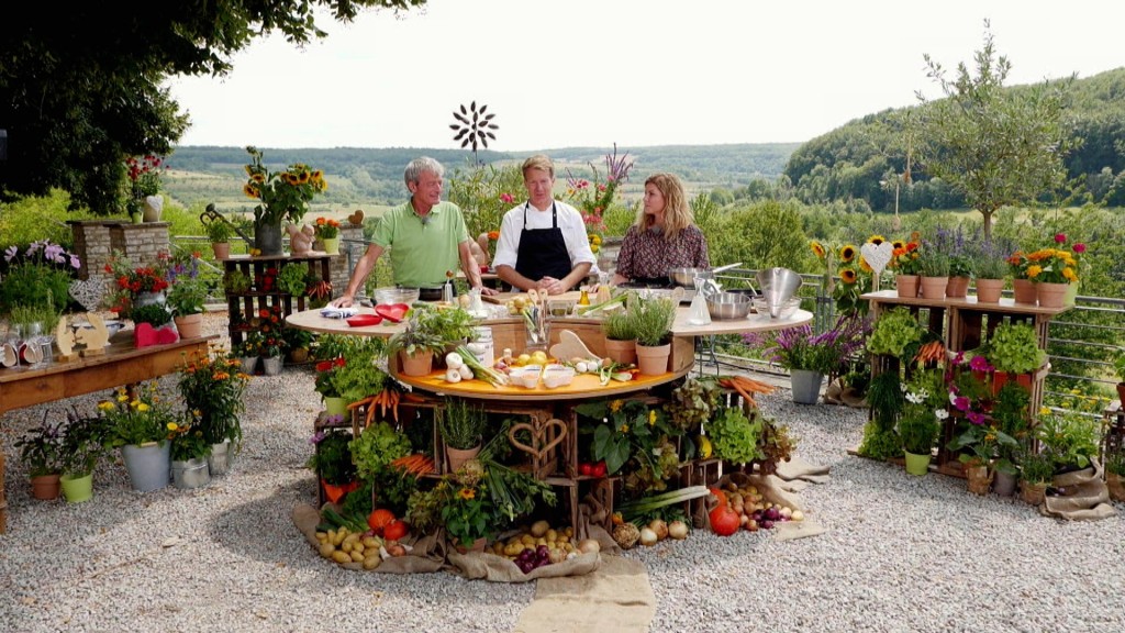
[[[944,99],[922,108],[926,149],[921,167],[965,195],[983,216],[1007,205],[1032,204],[1058,190],[1066,178],[1063,158],[1078,143],[1063,122],[1065,92],[1059,82],[1004,90],[1011,63],[997,55],[984,23],[984,46],[974,55],[975,74],[962,62],[954,78],[927,54],[927,77]],[[1066,81],[1072,81],[1073,78]]]

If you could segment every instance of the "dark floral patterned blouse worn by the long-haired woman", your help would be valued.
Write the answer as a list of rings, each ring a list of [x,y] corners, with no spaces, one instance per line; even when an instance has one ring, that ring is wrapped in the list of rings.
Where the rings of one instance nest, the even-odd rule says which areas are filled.
[[[668,241],[663,234],[641,231],[636,224],[626,231],[618,252],[618,275],[629,279],[667,277],[677,267],[710,268],[706,240],[694,224]]]

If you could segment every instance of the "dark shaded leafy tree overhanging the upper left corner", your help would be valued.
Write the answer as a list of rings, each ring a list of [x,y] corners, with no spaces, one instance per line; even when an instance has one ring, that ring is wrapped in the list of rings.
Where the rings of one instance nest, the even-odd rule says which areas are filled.
[[[326,34],[314,11],[351,21],[363,8],[425,0],[80,2],[6,11],[0,37],[0,196],[71,194],[71,206],[117,211],[124,159],[166,154],[188,116],[163,88],[171,75],[223,75],[234,53],[280,32],[295,45]],[[92,27],[97,25],[97,27]]]

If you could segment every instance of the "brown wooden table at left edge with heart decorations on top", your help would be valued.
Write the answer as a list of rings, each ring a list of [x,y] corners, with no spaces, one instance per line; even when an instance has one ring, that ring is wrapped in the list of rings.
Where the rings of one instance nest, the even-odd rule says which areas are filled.
[[[135,384],[176,372],[194,353],[207,354],[218,337],[183,339],[137,348],[133,330],[117,332],[106,353],[71,363],[21,365],[0,369],[0,416],[14,409]],[[0,455],[0,534],[7,532],[8,505]]]

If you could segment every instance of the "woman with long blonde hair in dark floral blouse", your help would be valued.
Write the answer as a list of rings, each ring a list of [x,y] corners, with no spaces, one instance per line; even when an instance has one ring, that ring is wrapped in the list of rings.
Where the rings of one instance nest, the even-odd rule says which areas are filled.
[[[613,283],[666,286],[673,268],[710,268],[706,239],[692,221],[680,178],[672,173],[649,176],[645,208],[621,242]]]

